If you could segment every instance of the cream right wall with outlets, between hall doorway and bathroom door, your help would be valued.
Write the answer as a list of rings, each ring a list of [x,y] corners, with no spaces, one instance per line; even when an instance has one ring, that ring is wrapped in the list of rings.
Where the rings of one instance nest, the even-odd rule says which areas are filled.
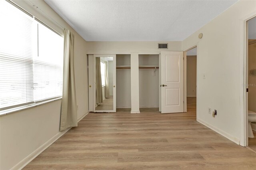
[[[198,121],[236,143],[242,114],[241,20],[256,14],[255,7],[256,1],[240,0],[182,42],[183,51],[198,44]],[[215,118],[208,107],[217,110]]]

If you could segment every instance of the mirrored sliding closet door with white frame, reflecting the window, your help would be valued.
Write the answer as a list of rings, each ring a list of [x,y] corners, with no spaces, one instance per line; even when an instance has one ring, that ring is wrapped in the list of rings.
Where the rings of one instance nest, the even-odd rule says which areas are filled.
[[[104,85],[104,83],[102,83],[102,95],[103,95],[103,101],[101,103],[97,103],[96,100],[96,93],[97,93],[97,87],[96,87],[96,81],[97,81],[97,77],[96,77],[96,73],[97,73],[97,68],[96,68],[96,58],[100,58],[100,62],[103,63],[103,67],[104,68],[104,63],[108,63],[108,77],[111,76],[111,82],[108,81],[108,87],[109,90],[111,88],[111,90],[113,91],[113,95],[108,94],[108,97],[105,96],[105,91],[106,91],[106,85]],[[112,62],[110,64],[110,62]],[[106,54],[100,54],[100,55],[95,55],[94,54],[94,112],[100,112],[100,113],[109,113],[109,112],[116,112],[116,55],[106,55]],[[110,66],[111,65],[111,66]],[[99,70],[98,70],[99,71]],[[105,71],[103,69],[101,69],[101,77],[104,77],[104,73],[106,72],[106,67],[105,67]],[[101,79],[102,82],[104,81],[104,78]],[[110,79],[109,79],[110,80]],[[106,83],[106,81],[105,81]]]

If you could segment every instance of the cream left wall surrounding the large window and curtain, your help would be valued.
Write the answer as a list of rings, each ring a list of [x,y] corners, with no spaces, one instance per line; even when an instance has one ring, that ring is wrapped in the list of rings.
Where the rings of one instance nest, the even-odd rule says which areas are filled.
[[[14,0],[22,8],[63,34],[62,28],[56,26],[44,14],[41,14],[28,1]],[[44,1],[32,0],[53,20],[74,33],[74,65],[76,101],[79,105],[78,118],[88,113],[88,70],[86,42]],[[17,28],[18,29],[18,28]],[[61,100],[26,109],[0,117],[0,169],[7,170],[15,166],[20,168],[33,156],[45,142],[58,136],[60,126]],[[37,151],[36,151],[37,152]],[[20,164],[18,164],[20,162]],[[17,165],[17,166],[16,166]]]

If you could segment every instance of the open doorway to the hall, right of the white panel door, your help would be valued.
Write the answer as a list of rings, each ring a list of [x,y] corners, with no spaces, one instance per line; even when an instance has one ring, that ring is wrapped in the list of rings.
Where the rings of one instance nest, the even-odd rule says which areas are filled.
[[[184,112],[196,115],[197,46],[184,51]]]

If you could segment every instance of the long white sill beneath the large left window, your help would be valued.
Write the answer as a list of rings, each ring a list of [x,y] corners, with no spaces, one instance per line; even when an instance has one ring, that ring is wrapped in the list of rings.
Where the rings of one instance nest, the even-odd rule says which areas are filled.
[[[12,109],[7,109],[7,110],[4,110],[4,111],[0,111],[0,117],[4,116],[4,115],[11,114],[11,113],[15,113],[15,112],[18,112],[18,111],[23,111],[23,110],[26,110],[26,109],[30,109],[32,107],[44,105],[46,103],[50,103],[50,102],[57,101],[57,100],[60,100],[60,99],[62,99],[62,97],[49,99],[49,100],[42,101],[42,102],[39,102],[39,103],[33,103],[33,104],[30,104],[30,105],[25,105],[25,106],[20,106],[20,107],[15,107],[15,108],[12,108]]]

